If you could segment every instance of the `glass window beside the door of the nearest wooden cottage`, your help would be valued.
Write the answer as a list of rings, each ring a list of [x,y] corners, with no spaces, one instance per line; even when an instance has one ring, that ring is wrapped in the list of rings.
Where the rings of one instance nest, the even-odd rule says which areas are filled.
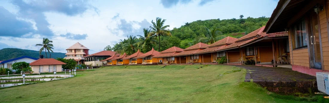
[[[293,39],[293,48],[298,49],[298,48],[304,48],[307,47],[307,31],[306,31],[306,23],[305,20],[301,20],[297,23],[295,23],[292,26],[292,39]]]

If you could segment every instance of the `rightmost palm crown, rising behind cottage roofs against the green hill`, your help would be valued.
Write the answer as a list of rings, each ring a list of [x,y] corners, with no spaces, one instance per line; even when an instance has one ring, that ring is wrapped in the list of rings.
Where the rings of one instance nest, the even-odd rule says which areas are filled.
[[[199,42],[212,44],[226,37],[225,35],[222,34],[219,28],[211,28],[211,29],[206,28],[206,29],[207,29],[206,38],[200,38]]]

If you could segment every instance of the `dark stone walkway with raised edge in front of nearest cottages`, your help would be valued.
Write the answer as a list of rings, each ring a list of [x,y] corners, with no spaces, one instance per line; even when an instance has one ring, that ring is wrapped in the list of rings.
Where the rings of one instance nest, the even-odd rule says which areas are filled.
[[[227,65],[227,64],[225,64]],[[247,69],[245,82],[254,82],[269,91],[280,94],[314,93],[316,77],[283,67],[230,65]]]

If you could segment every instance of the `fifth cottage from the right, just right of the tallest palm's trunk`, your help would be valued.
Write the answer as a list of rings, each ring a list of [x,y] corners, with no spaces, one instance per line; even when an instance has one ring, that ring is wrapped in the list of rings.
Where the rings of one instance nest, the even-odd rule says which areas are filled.
[[[171,48],[168,48],[160,54],[153,56],[152,58],[157,58],[157,61],[159,64],[180,64],[177,63],[177,58],[173,57],[173,55],[183,52],[184,50],[182,48],[173,46]],[[179,61],[178,61],[179,62]]]

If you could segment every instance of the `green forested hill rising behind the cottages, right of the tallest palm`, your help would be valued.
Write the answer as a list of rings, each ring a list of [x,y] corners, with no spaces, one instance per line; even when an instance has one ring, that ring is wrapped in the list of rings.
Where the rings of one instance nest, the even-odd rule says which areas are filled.
[[[226,36],[240,38],[245,34],[248,34],[262,26],[265,26],[268,19],[269,19],[268,17],[263,16],[258,18],[247,17],[245,19],[232,18],[232,19],[224,19],[224,20],[220,20],[220,19],[197,20],[191,23],[187,22],[185,23],[185,25],[182,25],[179,28],[174,28],[173,30],[171,30],[172,37],[174,38],[164,37],[163,40],[164,43],[166,43],[165,40],[168,39],[169,41],[176,41],[180,39],[179,45],[173,44],[171,46],[178,46],[184,49],[197,43],[199,38],[204,38],[205,33],[207,33],[205,28],[210,29],[212,27],[220,28],[222,34]],[[174,39],[174,40],[170,40],[170,39]]]

